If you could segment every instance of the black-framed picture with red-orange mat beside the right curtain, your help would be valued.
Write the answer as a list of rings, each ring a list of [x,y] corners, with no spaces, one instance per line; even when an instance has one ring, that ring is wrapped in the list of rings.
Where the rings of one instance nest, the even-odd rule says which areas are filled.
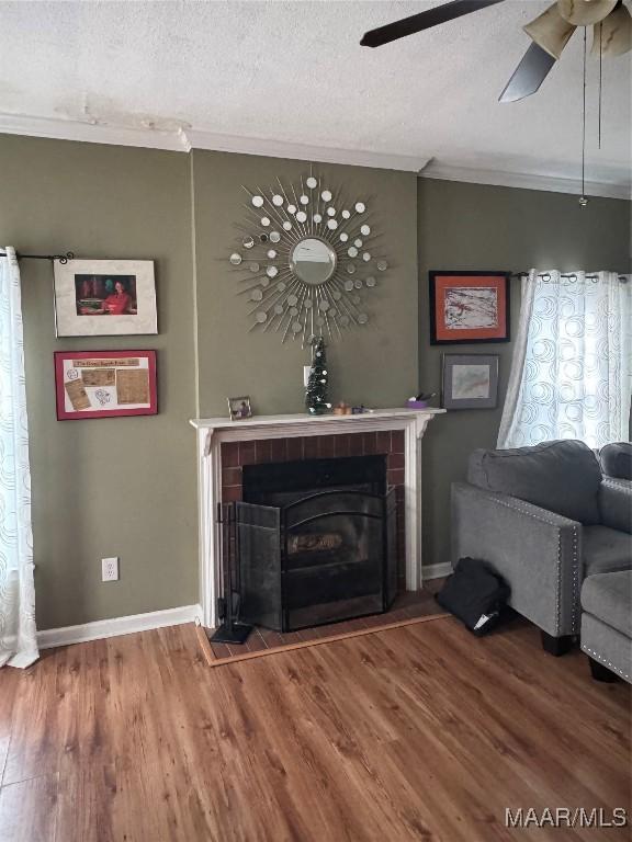
[[[509,341],[508,272],[430,272],[430,343]]]

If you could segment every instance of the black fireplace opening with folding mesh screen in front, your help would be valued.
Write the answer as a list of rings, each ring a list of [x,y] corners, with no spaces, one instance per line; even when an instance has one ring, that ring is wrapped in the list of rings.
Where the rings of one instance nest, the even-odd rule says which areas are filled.
[[[248,465],[233,505],[241,622],[292,632],[391,607],[396,499],[384,456]]]

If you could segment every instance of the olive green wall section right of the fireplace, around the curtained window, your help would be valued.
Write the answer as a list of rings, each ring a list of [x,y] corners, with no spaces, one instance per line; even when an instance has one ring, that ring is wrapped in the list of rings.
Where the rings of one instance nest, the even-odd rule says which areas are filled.
[[[419,373],[420,386],[440,391],[441,354],[500,354],[496,410],[452,411],[436,419],[424,439],[424,562],[449,561],[450,483],[465,477],[475,447],[495,447],[511,343],[430,345],[428,271],[573,269],[630,271],[631,203],[562,193],[419,180]],[[514,281],[511,329],[520,309]]]

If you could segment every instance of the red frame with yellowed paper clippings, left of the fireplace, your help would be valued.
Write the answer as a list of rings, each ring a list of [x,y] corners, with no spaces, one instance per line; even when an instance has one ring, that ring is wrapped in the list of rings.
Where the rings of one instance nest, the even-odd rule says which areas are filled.
[[[58,421],[158,412],[156,351],[55,351]]]

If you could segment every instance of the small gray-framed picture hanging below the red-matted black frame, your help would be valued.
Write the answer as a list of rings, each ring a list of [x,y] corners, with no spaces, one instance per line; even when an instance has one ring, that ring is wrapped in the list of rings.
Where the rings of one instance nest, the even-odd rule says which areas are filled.
[[[498,401],[498,354],[443,354],[444,409],[494,409]]]

